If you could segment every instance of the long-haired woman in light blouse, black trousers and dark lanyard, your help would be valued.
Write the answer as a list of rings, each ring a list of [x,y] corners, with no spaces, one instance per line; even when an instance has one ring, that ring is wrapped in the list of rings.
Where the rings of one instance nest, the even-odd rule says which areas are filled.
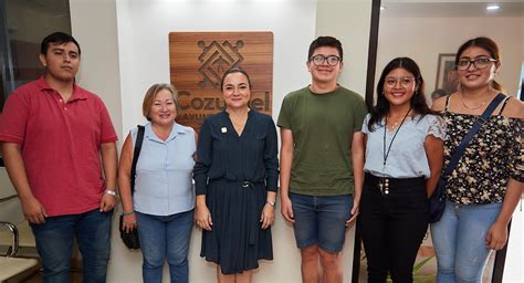
[[[377,85],[377,103],[364,120],[363,138],[354,145],[361,151],[355,167],[365,171],[355,190],[361,191],[357,224],[368,282],[386,282],[388,272],[392,282],[412,282],[428,229],[428,197],[442,168],[444,128],[423,88],[413,60],[389,62]]]

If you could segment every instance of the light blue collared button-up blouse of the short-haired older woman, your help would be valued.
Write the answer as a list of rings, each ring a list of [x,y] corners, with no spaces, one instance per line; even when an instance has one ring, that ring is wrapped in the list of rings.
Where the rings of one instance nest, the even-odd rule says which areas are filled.
[[[133,144],[138,128],[130,130]],[[144,143],[136,165],[135,210],[154,216],[170,216],[195,207],[192,187],[195,130],[175,124],[166,142],[145,125]]]

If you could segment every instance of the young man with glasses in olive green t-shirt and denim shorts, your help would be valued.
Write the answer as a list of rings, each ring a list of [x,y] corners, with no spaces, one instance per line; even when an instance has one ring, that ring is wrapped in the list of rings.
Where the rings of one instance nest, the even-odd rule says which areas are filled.
[[[281,209],[293,223],[302,255],[303,282],[342,282],[346,227],[356,219],[352,142],[367,113],[358,94],[337,84],[340,42],[319,36],[310,45],[312,84],[285,96],[281,127]],[[364,151],[364,150],[361,150]],[[357,182],[359,184],[359,182]]]

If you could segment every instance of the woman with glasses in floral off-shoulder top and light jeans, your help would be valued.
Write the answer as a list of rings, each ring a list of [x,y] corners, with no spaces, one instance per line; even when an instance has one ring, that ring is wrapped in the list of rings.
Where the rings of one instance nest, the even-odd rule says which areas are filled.
[[[433,109],[443,112],[448,127],[444,168],[465,133],[502,92],[495,82],[499,46],[491,39],[467,41],[455,64],[459,91],[433,104]],[[523,103],[505,97],[446,176],[446,210],[431,224],[438,282],[481,282],[491,251],[506,244],[507,223],[524,188],[523,117]]]

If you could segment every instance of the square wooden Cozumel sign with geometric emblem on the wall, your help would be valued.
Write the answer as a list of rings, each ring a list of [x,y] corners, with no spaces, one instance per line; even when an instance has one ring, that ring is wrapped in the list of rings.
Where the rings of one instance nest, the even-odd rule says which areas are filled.
[[[240,65],[251,78],[250,107],[266,114],[273,103],[272,32],[171,32],[169,67],[181,111],[177,120],[199,129],[223,109],[222,75]]]

